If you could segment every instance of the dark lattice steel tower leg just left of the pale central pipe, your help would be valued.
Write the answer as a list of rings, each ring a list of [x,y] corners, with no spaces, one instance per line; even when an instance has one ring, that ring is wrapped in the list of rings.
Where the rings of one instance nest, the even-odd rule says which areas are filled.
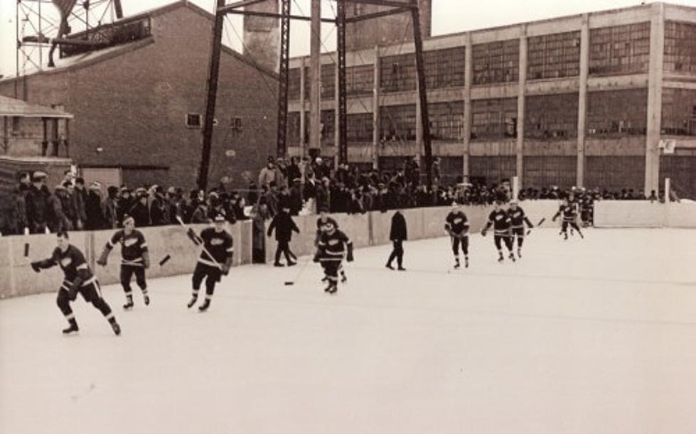
[[[290,59],[290,0],[281,0],[280,67],[278,81],[278,134],[276,154],[287,153],[288,67]]]

